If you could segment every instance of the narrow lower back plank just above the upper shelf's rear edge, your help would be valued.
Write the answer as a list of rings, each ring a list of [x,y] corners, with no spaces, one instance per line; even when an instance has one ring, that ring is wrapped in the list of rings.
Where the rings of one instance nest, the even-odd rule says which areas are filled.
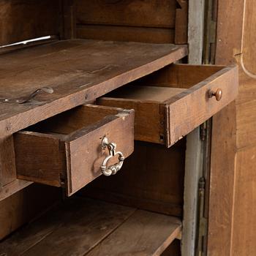
[[[135,26],[77,25],[78,38],[126,42],[174,43],[174,29]]]

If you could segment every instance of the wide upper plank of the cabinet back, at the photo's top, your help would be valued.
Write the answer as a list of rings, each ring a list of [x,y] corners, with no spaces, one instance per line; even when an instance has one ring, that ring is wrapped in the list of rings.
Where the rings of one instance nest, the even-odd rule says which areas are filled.
[[[174,28],[175,0],[75,0],[78,24]],[[157,10],[157,15],[156,15]]]

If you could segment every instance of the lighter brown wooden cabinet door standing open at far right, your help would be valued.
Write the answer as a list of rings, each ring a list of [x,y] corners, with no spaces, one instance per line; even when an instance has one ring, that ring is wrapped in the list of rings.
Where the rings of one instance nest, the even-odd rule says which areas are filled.
[[[218,6],[216,62],[237,62],[240,84],[236,102],[214,116],[208,229],[208,254],[214,256],[256,254],[255,8],[252,0]]]

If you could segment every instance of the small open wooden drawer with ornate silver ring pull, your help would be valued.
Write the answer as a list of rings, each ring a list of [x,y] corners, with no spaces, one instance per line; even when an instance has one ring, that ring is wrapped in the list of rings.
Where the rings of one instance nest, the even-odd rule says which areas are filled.
[[[15,133],[14,141],[18,178],[72,195],[132,154],[134,110],[83,105]]]

